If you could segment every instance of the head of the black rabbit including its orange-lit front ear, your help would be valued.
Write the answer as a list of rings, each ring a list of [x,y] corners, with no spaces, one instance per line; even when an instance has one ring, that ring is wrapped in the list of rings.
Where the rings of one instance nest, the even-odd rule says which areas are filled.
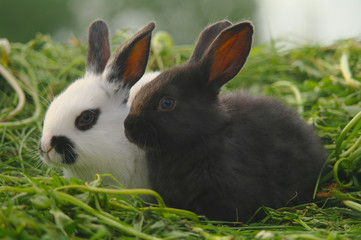
[[[249,22],[229,26],[205,46],[198,42],[201,52],[196,47],[186,64],[145,85],[124,122],[128,139],[146,149],[176,150],[215,136],[229,121],[218,93],[245,63],[252,34]]]

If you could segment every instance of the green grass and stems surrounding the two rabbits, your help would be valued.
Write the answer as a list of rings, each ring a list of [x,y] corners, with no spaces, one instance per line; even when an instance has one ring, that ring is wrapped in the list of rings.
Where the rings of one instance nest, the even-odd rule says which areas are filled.
[[[114,36],[113,49],[127,37],[124,32]],[[266,213],[262,221],[234,225],[166,208],[150,190],[104,188],[103,176],[90,183],[66,181],[59,169],[41,164],[37,142],[44,112],[54,95],[84,73],[86,46],[77,39],[56,43],[38,35],[27,44],[11,43],[9,54],[0,47],[2,66],[22,89],[15,91],[8,77],[0,75],[0,238],[361,238],[361,42],[292,50],[283,44],[254,47],[224,91],[273,95],[315,126],[329,154],[327,165],[333,168],[317,183],[319,196],[328,199],[292,208],[261,207]],[[180,64],[191,50],[173,46],[166,33],[157,34],[149,68]],[[138,194],[149,194],[158,204],[150,206]]]

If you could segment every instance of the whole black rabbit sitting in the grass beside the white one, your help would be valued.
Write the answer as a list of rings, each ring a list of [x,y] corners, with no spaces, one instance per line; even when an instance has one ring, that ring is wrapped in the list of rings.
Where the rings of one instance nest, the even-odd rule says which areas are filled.
[[[312,201],[325,153],[311,127],[274,98],[219,96],[252,34],[249,22],[224,29],[135,96],[125,134],[145,149],[150,183],[169,206],[244,221],[262,205]]]

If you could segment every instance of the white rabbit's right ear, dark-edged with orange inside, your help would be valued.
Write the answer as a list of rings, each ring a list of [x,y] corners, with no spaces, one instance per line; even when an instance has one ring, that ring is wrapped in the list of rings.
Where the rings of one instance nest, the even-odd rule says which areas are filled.
[[[155,23],[151,22],[130,38],[112,56],[106,66],[106,79],[131,88],[144,74]]]

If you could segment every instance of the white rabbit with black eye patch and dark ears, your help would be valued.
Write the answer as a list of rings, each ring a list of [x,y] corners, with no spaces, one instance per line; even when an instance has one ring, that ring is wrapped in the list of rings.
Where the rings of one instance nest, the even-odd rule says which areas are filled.
[[[144,74],[154,26],[145,26],[112,56],[105,22],[89,27],[85,76],[51,103],[39,142],[42,160],[63,168],[66,178],[91,181],[96,173],[110,173],[127,188],[149,187],[144,151],[124,136],[123,122],[129,96],[139,90],[129,92]]]

